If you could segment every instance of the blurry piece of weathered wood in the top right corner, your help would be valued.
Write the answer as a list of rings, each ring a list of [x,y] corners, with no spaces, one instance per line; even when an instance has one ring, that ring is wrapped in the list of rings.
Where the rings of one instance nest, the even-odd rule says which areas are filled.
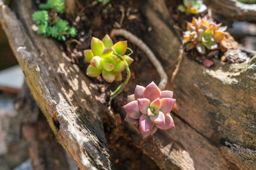
[[[256,4],[244,4],[237,0],[204,0],[216,15],[230,20],[255,21]]]

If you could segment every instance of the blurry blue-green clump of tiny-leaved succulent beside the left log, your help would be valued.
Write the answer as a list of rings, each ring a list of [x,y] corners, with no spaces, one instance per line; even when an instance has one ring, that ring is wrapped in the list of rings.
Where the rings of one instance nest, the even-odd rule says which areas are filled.
[[[56,38],[58,41],[65,41],[70,36],[76,36],[76,28],[70,27],[67,20],[63,20],[58,16],[58,13],[63,13],[65,10],[64,0],[48,0],[47,3],[40,4],[39,8],[40,10],[36,11],[32,16],[38,26],[38,34]],[[51,18],[46,11],[51,9],[54,9],[57,13],[55,18]]]

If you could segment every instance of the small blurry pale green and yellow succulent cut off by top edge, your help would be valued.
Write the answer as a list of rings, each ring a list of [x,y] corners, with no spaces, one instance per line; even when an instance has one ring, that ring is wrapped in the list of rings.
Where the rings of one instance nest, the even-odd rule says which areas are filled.
[[[207,6],[202,0],[183,0],[183,4],[180,4],[178,9],[182,12],[197,14],[207,10]]]

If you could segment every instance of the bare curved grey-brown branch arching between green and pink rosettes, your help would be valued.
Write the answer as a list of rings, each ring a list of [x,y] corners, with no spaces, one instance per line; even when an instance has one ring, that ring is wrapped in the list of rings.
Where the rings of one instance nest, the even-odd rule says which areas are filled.
[[[124,36],[124,38],[128,39],[131,43],[134,43],[134,45],[138,46],[143,52],[145,52],[148,59],[152,62],[153,66],[156,67],[157,73],[161,77],[161,81],[158,85],[159,89],[164,90],[167,84],[168,76],[165,73],[161,62],[159,62],[152,50],[150,50],[150,48],[140,38],[125,29],[113,29],[110,36]]]

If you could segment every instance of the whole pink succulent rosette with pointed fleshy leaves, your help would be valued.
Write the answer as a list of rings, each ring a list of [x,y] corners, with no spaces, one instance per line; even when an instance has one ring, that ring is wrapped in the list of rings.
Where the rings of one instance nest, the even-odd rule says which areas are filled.
[[[134,94],[128,96],[128,104],[123,106],[127,115],[125,121],[131,124],[140,123],[140,132],[143,138],[154,134],[157,129],[175,127],[170,115],[176,99],[173,92],[161,90],[152,81],[147,87],[136,85]]]

